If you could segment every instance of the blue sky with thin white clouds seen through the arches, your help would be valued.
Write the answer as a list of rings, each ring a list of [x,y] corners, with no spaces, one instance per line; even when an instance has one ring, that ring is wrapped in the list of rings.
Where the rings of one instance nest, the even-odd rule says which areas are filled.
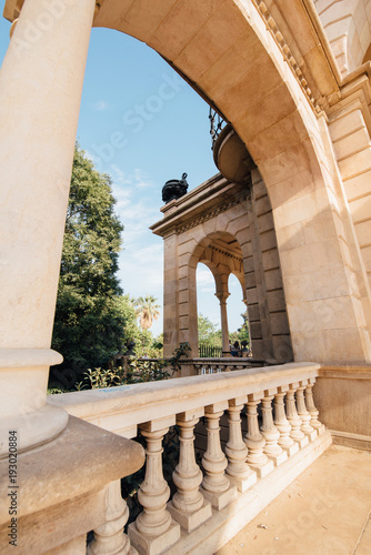
[[[10,23],[0,21],[0,61]],[[162,306],[163,244],[149,226],[161,220],[161,190],[188,173],[190,190],[218,172],[208,104],[153,50],[108,29],[93,29],[77,139],[96,167],[109,173],[124,225],[121,285],[131,296],[154,295]],[[229,327],[242,324],[237,279],[230,280]],[[198,309],[220,325],[209,270],[198,268]],[[162,331],[162,310],[152,326]]]

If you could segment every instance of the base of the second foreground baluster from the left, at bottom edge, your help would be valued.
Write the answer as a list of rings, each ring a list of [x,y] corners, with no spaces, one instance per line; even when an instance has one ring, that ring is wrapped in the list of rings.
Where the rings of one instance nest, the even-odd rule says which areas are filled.
[[[160,536],[146,536],[138,531],[136,523],[129,525],[129,539],[139,555],[159,555],[169,549],[180,538],[180,525],[171,519],[170,527]]]

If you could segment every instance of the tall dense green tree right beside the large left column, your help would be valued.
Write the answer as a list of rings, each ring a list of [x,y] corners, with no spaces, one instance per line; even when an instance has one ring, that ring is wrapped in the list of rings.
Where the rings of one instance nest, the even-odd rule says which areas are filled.
[[[124,341],[117,278],[123,226],[114,203],[109,175],[77,145],[52,347],[63,355],[63,367],[78,373],[107,364]]]

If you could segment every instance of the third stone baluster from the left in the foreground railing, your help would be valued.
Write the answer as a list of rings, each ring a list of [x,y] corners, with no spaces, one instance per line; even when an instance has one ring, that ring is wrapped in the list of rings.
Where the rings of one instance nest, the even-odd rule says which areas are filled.
[[[192,532],[212,516],[211,504],[203,498],[199,488],[202,472],[194,458],[193,430],[203,414],[204,410],[199,408],[177,415],[180,451],[179,464],[172,476],[178,492],[168,503],[168,509],[187,532]]]

